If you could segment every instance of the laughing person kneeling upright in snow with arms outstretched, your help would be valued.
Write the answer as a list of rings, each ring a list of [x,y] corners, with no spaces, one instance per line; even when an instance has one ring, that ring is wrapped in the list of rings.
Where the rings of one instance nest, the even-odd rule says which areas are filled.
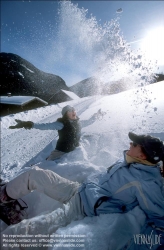
[[[60,158],[65,153],[73,151],[79,146],[81,135],[81,124],[75,109],[67,105],[62,109],[62,117],[52,123],[33,123],[32,121],[15,120],[17,124],[10,126],[10,129],[41,129],[41,130],[58,130],[59,139],[56,148],[51,152],[46,160],[53,161]]]

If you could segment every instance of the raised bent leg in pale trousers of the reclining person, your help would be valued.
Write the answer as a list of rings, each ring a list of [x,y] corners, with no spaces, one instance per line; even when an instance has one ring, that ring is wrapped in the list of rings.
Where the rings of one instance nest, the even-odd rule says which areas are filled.
[[[6,192],[11,198],[18,199],[32,190],[37,190],[65,203],[77,192],[78,187],[78,182],[72,182],[51,170],[36,166],[11,180],[6,186]]]

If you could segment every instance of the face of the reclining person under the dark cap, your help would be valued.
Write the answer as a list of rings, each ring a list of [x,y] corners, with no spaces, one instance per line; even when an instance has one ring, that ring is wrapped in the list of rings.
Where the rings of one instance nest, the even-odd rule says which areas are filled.
[[[146,160],[146,155],[143,153],[142,147],[134,142],[130,142],[130,148],[127,151],[127,155],[131,157],[137,157],[142,160]]]

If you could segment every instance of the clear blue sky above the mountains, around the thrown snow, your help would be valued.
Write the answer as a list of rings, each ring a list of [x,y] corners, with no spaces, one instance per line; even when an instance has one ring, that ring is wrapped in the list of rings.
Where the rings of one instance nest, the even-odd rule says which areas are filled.
[[[127,43],[131,44],[132,49],[140,48],[143,39],[148,37],[148,32],[155,32],[158,27],[164,28],[164,1],[72,1],[72,3],[78,4],[80,11],[82,8],[88,10],[85,19],[83,18],[83,24],[87,25],[87,28],[91,15],[100,26],[119,17],[121,34]],[[120,8],[122,12],[116,13]],[[59,75],[67,85],[72,85],[90,76],[91,71],[87,68],[90,67],[89,60],[92,61],[93,57],[88,59],[85,58],[84,51],[72,50],[77,46],[77,41],[75,44],[73,39],[76,34],[71,31],[72,24],[68,25],[72,19],[70,20],[69,12],[66,11],[64,13],[67,13],[68,17],[64,14],[66,17],[61,18],[59,11],[61,11],[59,1],[1,1],[1,52],[15,53],[40,70]],[[80,11],[75,22],[82,19]],[[76,15],[76,12],[74,13],[73,15]],[[89,25],[92,24],[93,22],[89,22]],[[65,34],[69,31],[67,35],[68,40],[72,41],[72,46],[66,35],[63,36],[64,27]],[[75,28],[79,29],[78,26]],[[151,36],[149,37],[148,41],[152,40]],[[149,47],[147,44],[145,46]],[[150,50],[154,50],[154,54],[157,55],[155,46],[159,47],[153,44]],[[94,53],[96,54],[96,51]],[[162,53],[164,55],[164,51],[160,51],[160,55]],[[158,64],[160,70],[164,71],[164,61],[160,59]]]

